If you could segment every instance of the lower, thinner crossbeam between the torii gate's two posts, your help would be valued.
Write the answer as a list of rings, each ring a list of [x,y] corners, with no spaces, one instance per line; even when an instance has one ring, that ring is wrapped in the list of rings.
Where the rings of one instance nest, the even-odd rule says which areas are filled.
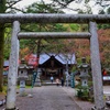
[[[90,38],[90,33],[72,33],[72,32],[21,32],[18,38]]]

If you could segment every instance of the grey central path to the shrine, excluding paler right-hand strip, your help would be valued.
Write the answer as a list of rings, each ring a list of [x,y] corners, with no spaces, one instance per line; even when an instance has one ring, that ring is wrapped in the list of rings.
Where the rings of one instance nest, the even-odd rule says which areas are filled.
[[[63,87],[34,87],[33,90],[26,89],[26,94],[33,97],[16,97],[19,110],[81,110]]]

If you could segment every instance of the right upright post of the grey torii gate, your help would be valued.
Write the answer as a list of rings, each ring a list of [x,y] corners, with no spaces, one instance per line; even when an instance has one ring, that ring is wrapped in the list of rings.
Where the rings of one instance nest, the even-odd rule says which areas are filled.
[[[91,33],[90,51],[91,51],[91,70],[92,70],[95,105],[96,105],[96,110],[105,110],[102,76],[101,76],[99,43],[98,43],[96,22],[89,23],[89,31]]]

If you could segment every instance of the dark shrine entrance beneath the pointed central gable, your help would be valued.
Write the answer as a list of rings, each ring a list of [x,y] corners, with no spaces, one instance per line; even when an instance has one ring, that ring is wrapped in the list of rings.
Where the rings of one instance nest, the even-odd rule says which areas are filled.
[[[40,68],[43,68],[42,79],[44,77],[46,80],[50,80],[51,76],[53,76],[54,79],[56,77],[61,78],[63,76],[63,69],[65,69],[64,65],[58,62],[55,56],[51,56],[51,58],[41,65]]]

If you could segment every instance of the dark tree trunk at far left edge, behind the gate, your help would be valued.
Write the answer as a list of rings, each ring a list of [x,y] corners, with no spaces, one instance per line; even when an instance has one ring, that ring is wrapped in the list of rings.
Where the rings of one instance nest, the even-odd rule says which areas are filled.
[[[0,0],[0,13],[9,12],[8,9],[12,8],[15,3],[21,0],[9,1],[9,0]],[[2,91],[2,80],[3,80],[3,51],[4,51],[4,31],[6,24],[0,23],[0,91]]]

